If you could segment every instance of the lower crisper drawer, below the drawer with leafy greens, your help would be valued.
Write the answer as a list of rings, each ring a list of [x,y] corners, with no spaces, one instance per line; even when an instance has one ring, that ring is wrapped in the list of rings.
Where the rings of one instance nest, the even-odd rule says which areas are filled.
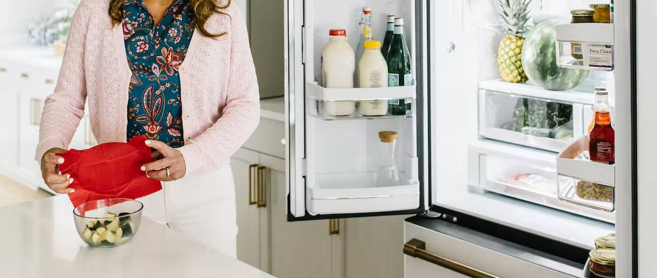
[[[614,212],[560,198],[561,176],[557,175],[555,154],[512,144],[480,140],[468,148],[468,184],[490,191],[614,223]]]

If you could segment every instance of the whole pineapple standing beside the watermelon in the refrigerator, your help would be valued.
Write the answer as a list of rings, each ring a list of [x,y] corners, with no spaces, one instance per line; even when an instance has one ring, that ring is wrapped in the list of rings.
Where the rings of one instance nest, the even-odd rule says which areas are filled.
[[[497,67],[502,79],[507,82],[519,83],[527,81],[527,75],[522,68],[522,45],[525,42],[523,34],[528,31],[528,6],[532,0],[498,0],[502,25],[507,35],[499,42],[497,49]]]

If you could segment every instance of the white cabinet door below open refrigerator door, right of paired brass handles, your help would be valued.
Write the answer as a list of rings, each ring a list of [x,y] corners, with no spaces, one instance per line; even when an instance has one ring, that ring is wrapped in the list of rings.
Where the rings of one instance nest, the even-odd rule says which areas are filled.
[[[269,169],[270,176],[271,274],[281,278],[342,277],[342,256],[333,252],[341,249],[341,240],[336,239],[341,235],[328,234],[329,220],[287,222],[284,160],[261,155],[260,164]]]

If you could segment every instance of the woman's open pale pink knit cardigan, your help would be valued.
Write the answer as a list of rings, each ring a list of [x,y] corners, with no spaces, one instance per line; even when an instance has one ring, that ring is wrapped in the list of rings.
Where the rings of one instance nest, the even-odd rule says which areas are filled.
[[[121,24],[112,27],[109,0],[82,0],[70,28],[55,92],[45,100],[35,159],[51,148],[68,149],[88,103],[91,130],[100,143],[126,142],[131,70]],[[194,31],[180,67],[187,174],[218,169],[248,139],[260,117],[260,97],[248,34],[238,5]]]

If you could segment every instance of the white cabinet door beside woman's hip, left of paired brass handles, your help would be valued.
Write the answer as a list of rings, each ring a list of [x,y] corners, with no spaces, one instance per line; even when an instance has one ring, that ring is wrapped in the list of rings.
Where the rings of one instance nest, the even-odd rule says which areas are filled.
[[[235,180],[235,203],[237,205],[237,258],[246,264],[262,269],[260,242],[261,209],[254,201],[254,184],[260,154],[239,149],[231,157],[231,169]],[[252,196],[250,196],[250,193]]]

